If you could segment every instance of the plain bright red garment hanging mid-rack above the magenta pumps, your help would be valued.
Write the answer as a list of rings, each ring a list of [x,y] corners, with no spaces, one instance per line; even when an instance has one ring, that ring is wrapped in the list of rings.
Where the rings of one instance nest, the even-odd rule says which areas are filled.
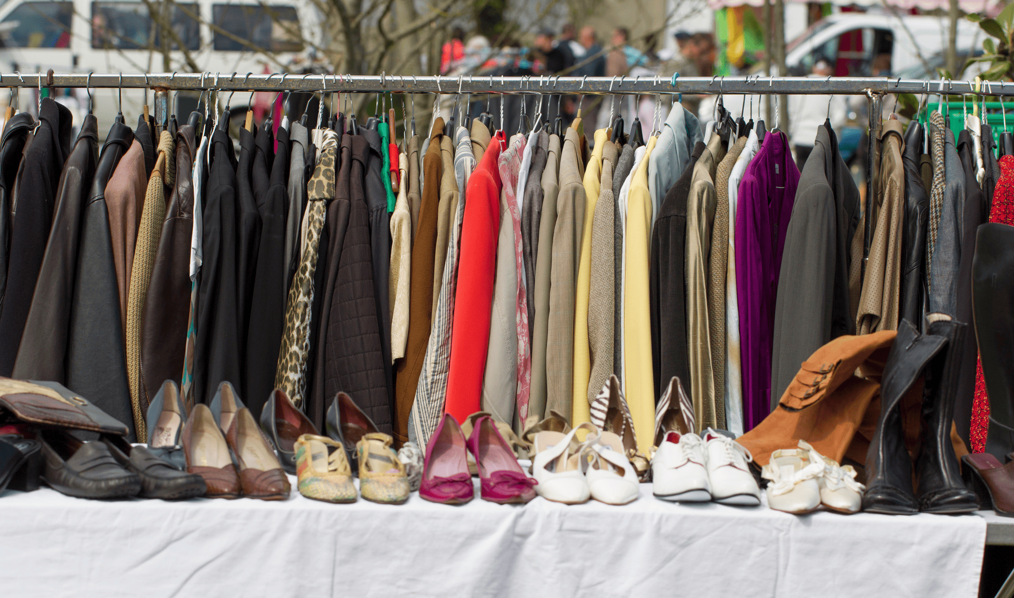
[[[458,424],[480,410],[483,374],[490,343],[493,278],[497,270],[500,232],[500,152],[507,139],[502,131],[490,141],[465,186],[461,222],[454,323],[450,337],[450,371],[444,410]]]

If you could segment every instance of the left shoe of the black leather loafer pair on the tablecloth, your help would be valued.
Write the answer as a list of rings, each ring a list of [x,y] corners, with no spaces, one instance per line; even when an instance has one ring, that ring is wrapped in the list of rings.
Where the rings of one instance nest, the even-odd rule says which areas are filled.
[[[42,434],[46,469],[53,490],[80,499],[123,499],[141,492],[141,477],[123,468],[102,442],[81,442],[63,430]]]

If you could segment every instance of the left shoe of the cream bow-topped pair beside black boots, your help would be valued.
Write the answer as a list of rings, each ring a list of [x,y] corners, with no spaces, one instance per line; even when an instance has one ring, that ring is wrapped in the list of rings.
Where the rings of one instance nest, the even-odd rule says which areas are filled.
[[[773,451],[771,461],[760,469],[760,476],[771,480],[767,489],[768,506],[795,515],[815,511],[820,507],[817,479],[823,476],[823,458],[814,450]]]

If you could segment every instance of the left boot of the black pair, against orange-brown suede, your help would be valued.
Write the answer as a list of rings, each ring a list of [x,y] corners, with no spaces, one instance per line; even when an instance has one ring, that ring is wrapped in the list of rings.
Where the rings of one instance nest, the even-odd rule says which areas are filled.
[[[901,399],[945,343],[940,337],[921,334],[907,319],[898,325],[880,382],[880,419],[866,453],[863,511],[885,515],[919,513],[912,488],[912,457],[901,431]]]

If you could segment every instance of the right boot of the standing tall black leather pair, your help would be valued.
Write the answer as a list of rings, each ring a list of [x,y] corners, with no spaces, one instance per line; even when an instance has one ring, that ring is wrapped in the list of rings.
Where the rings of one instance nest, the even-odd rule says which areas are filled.
[[[923,392],[923,442],[916,461],[919,510],[927,513],[971,513],[975,495],[964,487],[950,431],[954,398],[961,369],[961,351],[967,325],[944,313],[926,316],[927,332],[943,337],[946,345],[926,367]]]

